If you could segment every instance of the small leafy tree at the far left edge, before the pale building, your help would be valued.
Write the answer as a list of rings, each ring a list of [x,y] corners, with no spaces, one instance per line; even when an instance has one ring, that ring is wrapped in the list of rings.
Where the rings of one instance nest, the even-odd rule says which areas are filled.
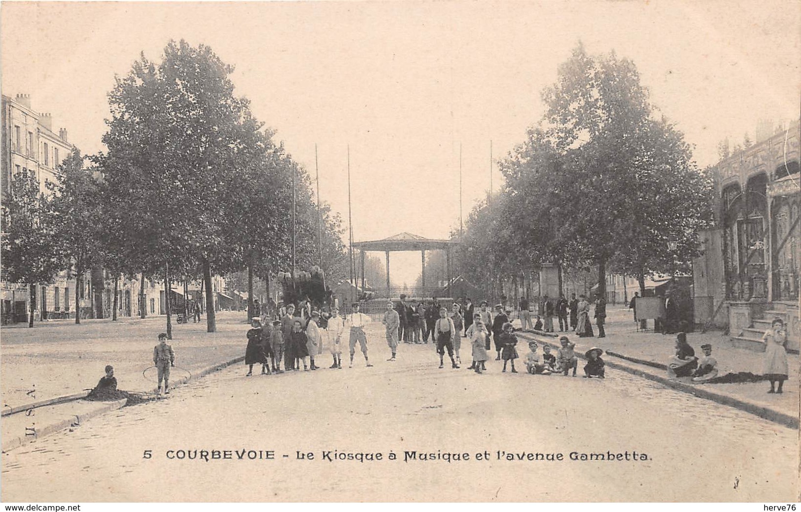
[[[36,284],[52,283],[62,269],[64,256],[54,236],[54,210],[34,172],[14,175],[10,185],[10,194],[3,198],[0,208],[2,279],[28,285],[28,327],[33,327]]]

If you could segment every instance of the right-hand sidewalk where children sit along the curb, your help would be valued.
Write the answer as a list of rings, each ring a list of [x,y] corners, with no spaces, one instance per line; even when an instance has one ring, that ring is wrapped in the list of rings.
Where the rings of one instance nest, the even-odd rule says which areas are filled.
[[[614,357],[608,352],[665,365],[667,359],[675,351],[676,335],[638,331],[630,312],[620,308],[612,310],[612,307],[609,307],[609,309],[610,316],[607,317],[606,337],[604,338],[598,338],[596,325],[593,325],[595,337],[592,338],[580,338],[573,332],[560,333],[558,325],[555,326],[557,330],[553,334],[556,334],[557,337],[562,335],[570,337],[570,341],[576,344],[575,350],[580,359],[584,357],[587,350],[597,346],[604,350],[604,361],[610,368],[636,373],[674,389],[724,405],[731,405],[795,429],[799,428],[798,355],[788,354],[787,356],[790,374],[782,394],[768,394],[767,389],[770,389],[770,384],[767,381],[743,384],[693,384],[689,378],[668,379],[664,370]],[[519,322],[516,323],[519,324]],[[522,333],[522,337],[549,343],[555,348],[559,345],[557,337],[547,336],[545,333]],[[719,331],[687,333],[687,342],[693,347],[698,357],[702,357],[701,345],[706,343],[712,345],[712,357],[718,360],[718,376],[737,372],[762,374],[763,353],[739,349],[731,344],[729,337]],[[523,353],[525,351],[521,351],[521,354]],[[579,374],[582,373],[583,365],[584,363],[579,361]]]

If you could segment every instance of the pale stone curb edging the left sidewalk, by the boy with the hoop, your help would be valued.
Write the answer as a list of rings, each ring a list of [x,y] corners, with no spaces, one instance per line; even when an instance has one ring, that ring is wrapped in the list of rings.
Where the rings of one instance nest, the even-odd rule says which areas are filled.
[[[187,384],[192,379],[199,379],[200,377],[204,377],[204,376],[208,375],[209,373],[214,373],[214,372],[216,372],[216,371],[218,371],[220,369],[223,369],[223,368],[225,368],[227,366],[230,366],[230,365],[235,365],[236,363],[239,363],[239,362],[244,361],[244,360],[245,360],[244,356],[240,356],[240,357],[235,357],[234,359],[231,359],[229,361],[224,361],[224,362],[218,363],[216,365],[208,366],[207,368],[204,368],[204,369],[200,370],[199,373],[192,374],[190,377],[182,377],[180,379],[177,379],[175,381],[175,384],[171,385],[170,388],[171,389],[175,389],[175,387],[177,385]],[[156,390],[157,390],[157,388],[153,389],[154,392]],[[86,396],[87,396],[87,393],[76,393],[76,394],[73,394],[73,395],[67,395],[65,397],[50,398],[49,400],[46,400],[46,401],[38,401],[38,402],[35,402],[35,403],[26,404],[26,405],[18,405],[17,407],[14,407],[14,412],[19,413],[19,412],[22,412],[22,411],[26,411],[27,409],[33,409],[34,407],[42,407],[42,406],[46,406],[46,405],[58,405],[58,404],[65,403],[67,401],[77,401],[80,398],[83,398],[83,397],[86,397]],[[3,452],[7,452],[9,450],[14,450],[14,448],[18,448],[19,446],[22,446],[22,445],[24,445],[24,444],[26,444],[26,443],[28,443],[30,441],[34,441],[34,440],[36,440],[38,438],[48,436],[51,433],[60,432],[62,429],[69,428],[70,426],[80,425],[83,421],[87,421],[92,417],[99,416],[100,414],[108,413],[108,412],[111,412],[113,410],[121,408],[123,405],[125,405],[125,402],[126,402],[125,399],[116,400],[116,401],[110,401],[110,402],[107,402],[106,404],[104,404],[102,406],[99,406],[98,409],[92,409],[91,411],[89,411],[87,413],[77,414],[77,415],[76,414],[70,414],[68,417],[66,417],[66,418],[64,418],[62,420],[56,421],[54,423],[51,423],[50,425],[46,425],[46,426],[42,427],[42,429],[37,429],[36,433],[34,435],[32,435],[32,436],[24,436],[24,435],[23,436],[13,436],[13,437],[10,437],[10,439],[3,439],[3,441],[2,441],[2,451]],[[95,402],[95,403],[99,403],[99,402]],[[9,411],[5,415],[10,415],[10,414],[12,414],[12,412]]]

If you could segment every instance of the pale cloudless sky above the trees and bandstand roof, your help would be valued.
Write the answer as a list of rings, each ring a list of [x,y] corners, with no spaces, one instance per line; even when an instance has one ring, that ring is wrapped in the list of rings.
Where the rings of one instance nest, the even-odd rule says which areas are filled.
[[[759,119],[799,119],[799,2],[2,2],[2,91],[31,95],[85,153],[107,92],[139,52],[205,43],[278,131],[356,240],[445,238],[499,158],[540,119],[540,92],[579,41],[637,65],[662,114],[714,163]],[[493,165],[493,187],[501,176]],[[380,256],[380,255],[378,255]],[[418,253],[392,256],[412,284]]]

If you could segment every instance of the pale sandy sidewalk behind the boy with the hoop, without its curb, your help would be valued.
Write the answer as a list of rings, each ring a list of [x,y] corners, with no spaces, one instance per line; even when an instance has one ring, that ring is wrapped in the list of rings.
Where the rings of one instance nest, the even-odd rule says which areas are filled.
[[[169,341],[175,350],[171,380],[195,374],[208,365],[244,356],[248,340],[244,312],[220,312],[217,332],[198,324],[173,323]],[[155,370],[153,347],[166,331],[164,316],[144,320],[126,318],[37,322],[33,329],[0,329],[0,389],[2,409],[80,393],[94,388],[106,365],[114,366],[119,389],[152,391]]]

